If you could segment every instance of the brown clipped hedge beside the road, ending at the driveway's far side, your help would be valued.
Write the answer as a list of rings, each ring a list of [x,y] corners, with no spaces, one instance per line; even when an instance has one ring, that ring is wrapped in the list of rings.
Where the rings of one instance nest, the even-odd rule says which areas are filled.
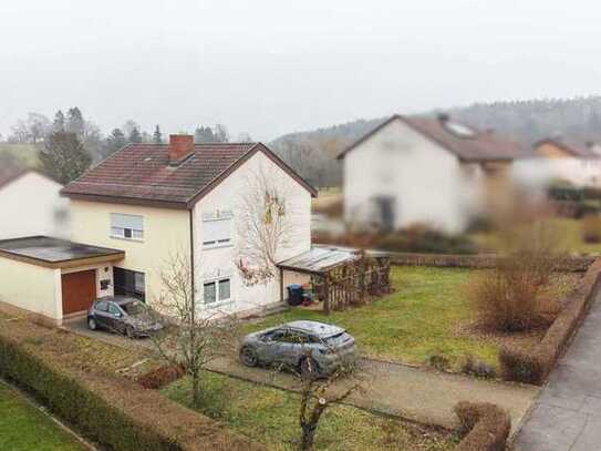
[[[570,337],[576,331],[592,300],[601,280],[601,259],[595,260],[569,295],[568,306],[559,314],[542,340],[530,350],[502,347],[499,360],[504,379],[542,385]]]

